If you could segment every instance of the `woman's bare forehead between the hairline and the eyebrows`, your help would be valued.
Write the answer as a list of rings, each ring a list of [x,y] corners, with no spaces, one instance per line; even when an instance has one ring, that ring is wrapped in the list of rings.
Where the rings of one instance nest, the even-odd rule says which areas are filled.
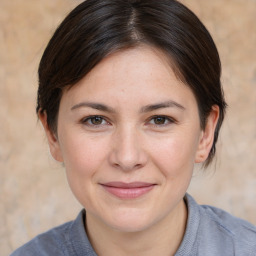
[[[122,104],[133,100],[194,101],[191,89],[177,78],[169,58],[160,50],[140,46],[103,59],[82,80],[63,94],[68,101],[90,100]],[[115,100],[115,101],[114,101]]]

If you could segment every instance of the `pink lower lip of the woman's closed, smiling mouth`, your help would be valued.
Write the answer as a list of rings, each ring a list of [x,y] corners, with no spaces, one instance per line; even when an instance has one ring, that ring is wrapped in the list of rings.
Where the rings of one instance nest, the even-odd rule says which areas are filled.
[[[154,188],[154,185],[139,188],[119,188],[102,185],[110,194],[120,199],[134,199],[147,194]]]

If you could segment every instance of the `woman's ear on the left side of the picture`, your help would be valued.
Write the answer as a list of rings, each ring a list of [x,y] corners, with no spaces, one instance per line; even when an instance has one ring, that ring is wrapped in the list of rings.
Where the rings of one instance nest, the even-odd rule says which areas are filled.
[[[58,162],[63,162],[62,153],[61,153],[60,144],[59,144],[57,135],[50,129],[47,123],[46,112],[39,111],[38,118],[44,127],[52,157]]]

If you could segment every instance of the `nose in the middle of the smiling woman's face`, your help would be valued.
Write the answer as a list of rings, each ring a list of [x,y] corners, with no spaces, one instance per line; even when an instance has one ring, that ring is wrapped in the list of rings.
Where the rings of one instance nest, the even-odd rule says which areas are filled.
[[[142,136],[135,128],[117,131],[112,138],[110,163],[123,171],[142,168],[147,163],[147,154],[143,147]]]

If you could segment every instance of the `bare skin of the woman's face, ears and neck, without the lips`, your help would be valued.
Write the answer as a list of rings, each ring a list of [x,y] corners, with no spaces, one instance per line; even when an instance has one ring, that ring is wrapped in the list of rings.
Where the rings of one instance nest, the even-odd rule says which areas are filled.
[[[218,115],[213,106],[202,130],[192,91],[165,55],[148,46],[108,56],[64,91],[57,134],[40,114],[51,153],[64,162],[71,190],[86,209],[98,255],[176,252],[186,227],[183,197],[194,164],[207,159]],[[122,199],[102,186],[113,181],[154,185]]]

